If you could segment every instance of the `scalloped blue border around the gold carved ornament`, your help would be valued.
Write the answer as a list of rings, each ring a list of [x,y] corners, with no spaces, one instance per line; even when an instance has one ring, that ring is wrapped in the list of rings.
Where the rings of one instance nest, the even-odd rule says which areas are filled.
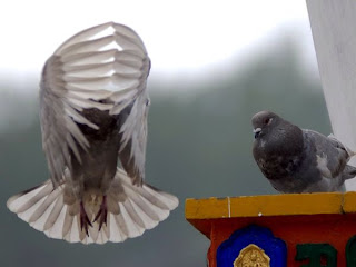
[[[285,241],[276,238],[268,228],[256,225],[236,230],[229,239],[218,247],[217,266],[233,267],[239,253],[251,244],[265,251],[270,258],[271,267],[287,266],[287,246]]]

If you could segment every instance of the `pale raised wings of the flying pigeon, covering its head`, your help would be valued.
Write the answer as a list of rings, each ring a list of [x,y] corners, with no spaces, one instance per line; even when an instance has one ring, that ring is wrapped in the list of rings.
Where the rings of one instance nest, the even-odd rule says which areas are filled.
[[[148,99],[149,68],[139,36],[113,22],[79,32],[47,60],[41,79],[40,118],[43,150],[55,185],[62,179],[66,167],[71,167],[70,151],[80,161],[80,152],[90,146],[77,123],[98,129],[81,115],[88,108],[119,115],[134,103],[121,127],[125,145],[121,149],[130,145],[135,168],[144,170],[147,109],[140,105]]]

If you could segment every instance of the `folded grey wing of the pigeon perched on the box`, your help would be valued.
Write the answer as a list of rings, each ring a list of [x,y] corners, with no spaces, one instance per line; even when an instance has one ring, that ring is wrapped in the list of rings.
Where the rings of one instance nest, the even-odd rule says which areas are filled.
[[[317,168],[322,175],[327,178],[339,176],[354,152],[332,135],[326,137],[312,130],[305,132],[315,144]]]

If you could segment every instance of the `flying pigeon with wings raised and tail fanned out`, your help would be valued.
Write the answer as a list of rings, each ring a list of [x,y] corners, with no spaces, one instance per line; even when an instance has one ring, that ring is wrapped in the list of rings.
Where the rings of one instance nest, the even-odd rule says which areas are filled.
[[[141,39],[122,24],[61,44],[40,83],[50,180],[8,208],[51,238],[83,244],[123,241],[166,219],[178,199],[144,182],[149,70]]]

